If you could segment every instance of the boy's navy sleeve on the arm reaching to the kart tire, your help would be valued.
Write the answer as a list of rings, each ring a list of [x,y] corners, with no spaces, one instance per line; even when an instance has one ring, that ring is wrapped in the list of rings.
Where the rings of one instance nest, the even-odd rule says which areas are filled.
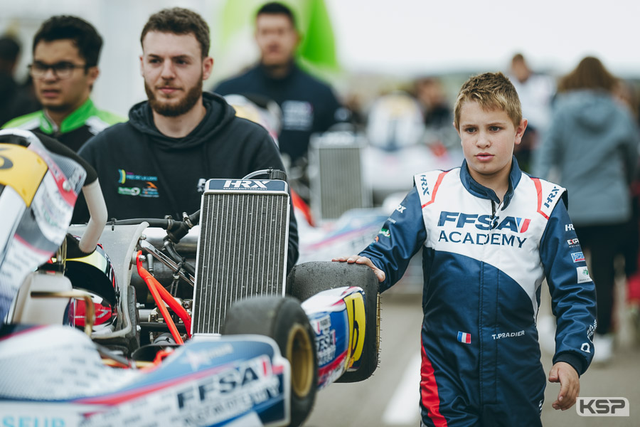
[[[414,186],[387,218],[375,241],[360,253],[385,272],[385,281],[379,285],[380,292],[402,278],[409,260],[420,250],[426,238],[420,196]]]

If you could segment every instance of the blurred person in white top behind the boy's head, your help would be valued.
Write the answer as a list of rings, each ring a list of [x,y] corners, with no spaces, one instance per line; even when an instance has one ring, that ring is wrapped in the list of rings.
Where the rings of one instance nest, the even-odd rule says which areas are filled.
[[[533,73],[522,53],[511,58],[509,78],[522,102],[522,114],[528,126],[522,143],[516,146],[516,159],[525,172],[531,171],[531,156],[550,121],[555,81],[549,75]]]

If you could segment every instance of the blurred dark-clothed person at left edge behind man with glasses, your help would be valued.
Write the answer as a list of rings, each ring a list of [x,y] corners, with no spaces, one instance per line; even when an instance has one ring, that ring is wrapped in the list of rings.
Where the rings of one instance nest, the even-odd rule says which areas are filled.
[[[0,125],[29,112],[36,111],[40,104],[27,87],[14,79],[20,56],[20,43],[12,36],[0,38]]]

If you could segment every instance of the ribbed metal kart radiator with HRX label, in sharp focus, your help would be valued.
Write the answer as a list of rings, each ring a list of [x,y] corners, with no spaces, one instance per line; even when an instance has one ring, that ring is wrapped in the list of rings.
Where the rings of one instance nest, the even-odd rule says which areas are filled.
[[[200,225],[193,334],[217,334],[236,300],[284,296],[287,182],[210,179],[202,196]]]

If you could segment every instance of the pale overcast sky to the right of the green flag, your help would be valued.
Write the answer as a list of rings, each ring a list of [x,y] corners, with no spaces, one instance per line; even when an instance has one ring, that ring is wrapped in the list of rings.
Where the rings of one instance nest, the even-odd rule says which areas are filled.
[[[503,67],[521,51],[565,72],[587,54],[640,75],[640,1],[325,0],[351,70]]]

